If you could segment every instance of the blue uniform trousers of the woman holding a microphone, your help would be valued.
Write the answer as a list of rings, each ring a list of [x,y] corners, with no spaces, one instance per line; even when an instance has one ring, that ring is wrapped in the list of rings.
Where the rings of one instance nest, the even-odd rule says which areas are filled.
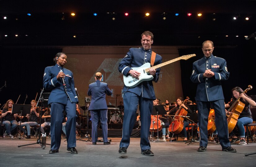
[[[75,125],[76,125],[76,103],[67,99],[67,104],[51,103],[51,149],[58,150],[61,145],[61,130],[64,119],[63,111],[67,113],[66,137],[67,147],[76,147]]]

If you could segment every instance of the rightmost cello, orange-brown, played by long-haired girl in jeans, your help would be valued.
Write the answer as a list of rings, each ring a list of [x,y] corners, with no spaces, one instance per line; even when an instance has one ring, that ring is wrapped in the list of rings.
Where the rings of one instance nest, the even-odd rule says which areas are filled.
[[[247,91],[251,90],[253,87],[251,85],[248,85],[248,88],[244,90],[242,93],[247,93]],[[236,126],[236,123],[238,121],[238,118],[240,116],[240,113],[245,108],[245,104],[240,101],[240,97],[236,99],[236,101],[231,105],[231,107],[228,109],[228,115],[227,118],[227,126],[228,126],[228,133],[233,131],[233,129]]]

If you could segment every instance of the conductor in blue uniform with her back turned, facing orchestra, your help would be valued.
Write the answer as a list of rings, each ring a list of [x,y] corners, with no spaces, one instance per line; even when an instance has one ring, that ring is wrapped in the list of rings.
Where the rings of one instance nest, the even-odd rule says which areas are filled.
[[[107,118],[107,103],[106,94],[108,96],[112,95],[112,91],[109,89],[108,84],[101,82],[102,74],[97,72],[95,74],[95,82],[89,85],[88,95],[92,96],[92,101],[89,106],[89,111],[91,112],[92,119],[92,144],[97,144],[98,133],[97,127],[99,119],[101,121],[103,144],[110,144],[108,141],[108,118]]]

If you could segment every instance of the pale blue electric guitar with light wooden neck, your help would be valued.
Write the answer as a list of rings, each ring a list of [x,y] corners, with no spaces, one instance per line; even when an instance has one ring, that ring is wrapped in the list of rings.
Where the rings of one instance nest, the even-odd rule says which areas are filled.
[[[134,88],[143,81],[149,81],[149,80],[153,79],[153,75],[149,75],[149,69],[150,68],[157,69],[157,68],[160,68],[160,67],[165,66],[167,64],[171,64],[173,62],[176,62],[178,60],[181,60],[181,59],[182,60],[187,60],[187,59],[192,58],[192,57],[195,57],[195,54],[184,55],[184,56],[181,56],[179,58],[175,58],[175,59],[169,60],[167,62],[163,62],[161,64],[158,64],[158,65],[152,66],[152,67],[150,67],[149,62],[143,64],[140,67],[132,67],[132,70],[136,70],[136,71],[140,72],[141,74],[137,78],[135,78],[132,75],[128,75],[127,77],[124,76],[124,84],[128,88]]]

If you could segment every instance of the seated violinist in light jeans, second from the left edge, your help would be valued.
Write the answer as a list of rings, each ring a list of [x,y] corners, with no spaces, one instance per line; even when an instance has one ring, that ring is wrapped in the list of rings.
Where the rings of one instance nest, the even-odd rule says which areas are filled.
[[[26,133],[27,137],[26,139],[30,139],[30,126],[36,126],[39,124],[39,113],[40,109],[36,107],[36,102],[35,100],[30,101],[31,104],[31,109],[30,109],[30,114],[27,114],[28,122],[22,122],[21,123],[21,131]],[[27,132],[23,128],[24,126],[27,127]],[[20,126],[18,126],[20,128]]]

